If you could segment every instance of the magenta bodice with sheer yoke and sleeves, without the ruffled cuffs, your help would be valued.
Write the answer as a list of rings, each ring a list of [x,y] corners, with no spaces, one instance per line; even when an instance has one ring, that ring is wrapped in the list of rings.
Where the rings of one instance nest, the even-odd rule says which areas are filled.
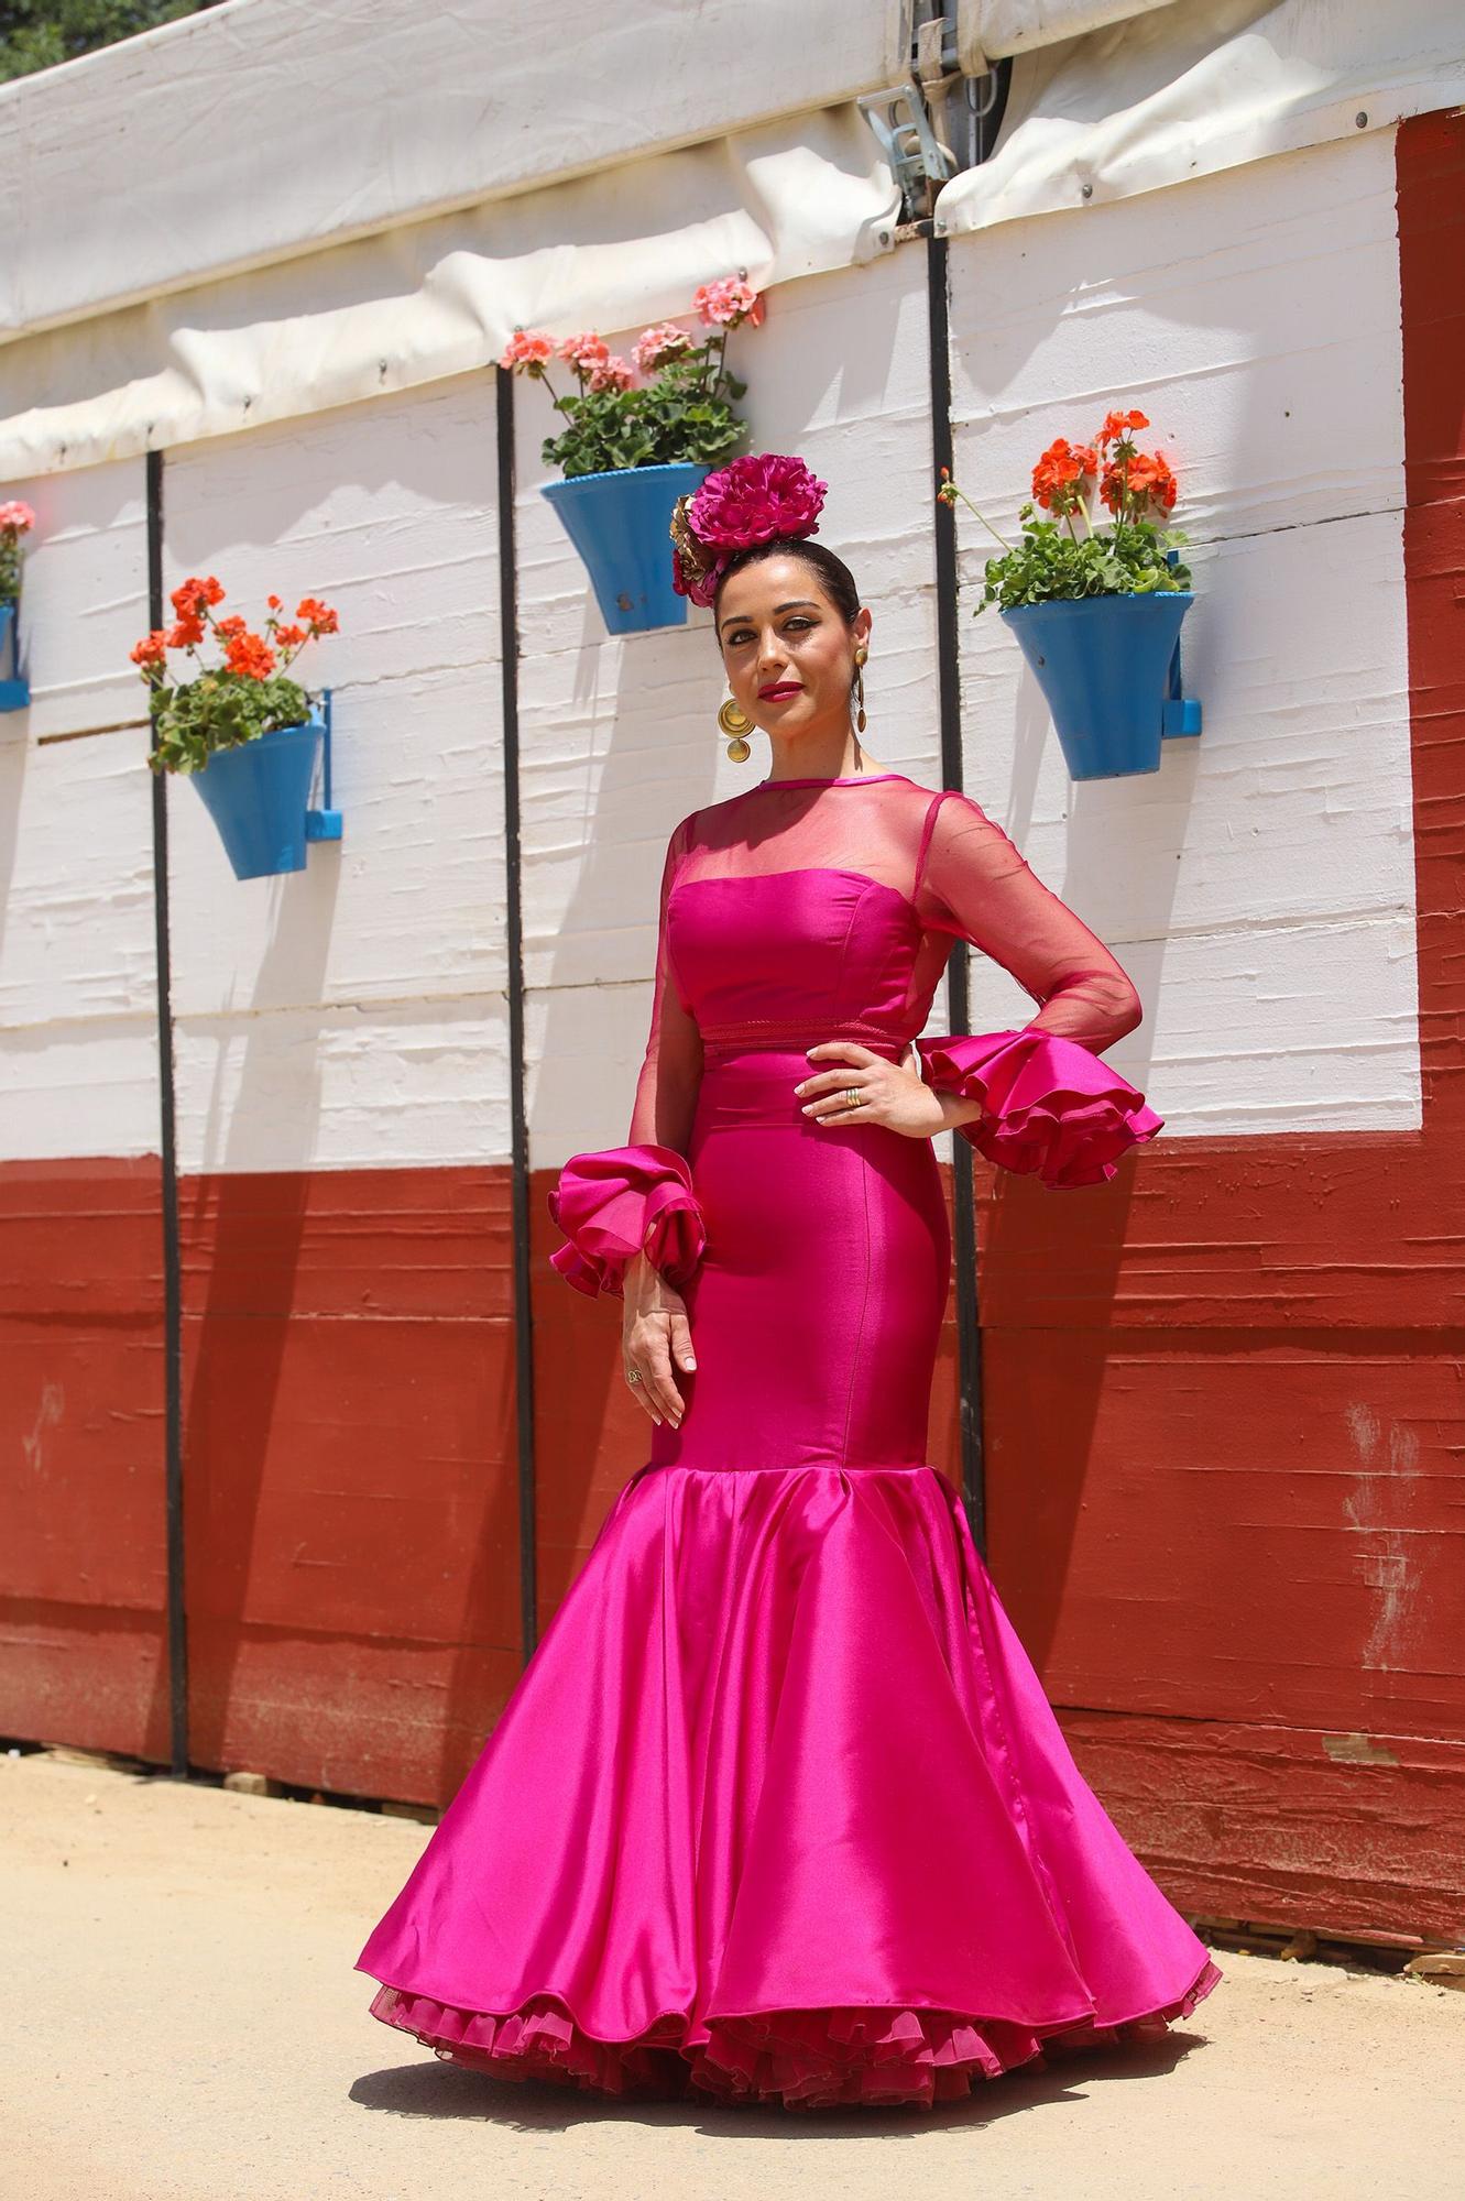
[[[1089,1048],[1135,1021],[1104,942],[955,788],[904,773],[765,779],[693,810],[662,865],[631,1140],[684,1147],[708,1061],[924,1032],[952,940],[1016,977],[1034,1026]]]

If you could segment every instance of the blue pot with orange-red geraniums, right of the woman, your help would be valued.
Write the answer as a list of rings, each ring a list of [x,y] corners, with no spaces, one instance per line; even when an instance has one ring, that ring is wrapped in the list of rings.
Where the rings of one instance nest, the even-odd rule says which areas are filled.
[[[941,467],[937,497],[961,497],[1003,546],[985,561],[974,610],[1001,605],[1073,779],[1157,773],[1166,735],[1201,731],[1201,707],[1179,687],[1179,629],[1194,603],[1179,557],[1186,535],[1157,524],[1177,484],[1166,458],[1135,447],[1148,425],[1142,412],[1111,412],[1093,442],[1051,442],[1034,467],[1036,504],[1018,513],[1021,544],[999,535]],[[1109,526],[1089,513],[1095,484]],[[1036,506],[1051,517],[1034,517]]]

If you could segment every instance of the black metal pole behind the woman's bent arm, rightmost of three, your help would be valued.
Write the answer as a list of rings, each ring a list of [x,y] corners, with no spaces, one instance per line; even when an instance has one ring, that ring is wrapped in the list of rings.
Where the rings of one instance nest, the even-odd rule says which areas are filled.
[[[941,467],[952,464],[950,438],[950,269],[946,238],[930,222],[926,233],[926,328],[930,346],[930,508],[935,513],[937,577],[937,704],[941,720],[941,786],[961,786],[961,656],[957,649],[957,515],[937,502]],[[952,469],[955,471],[955,469]],[[952,1032],[970,1030],[970,964],[963,940],[952,942],[946,964],[946,1012]],[[961,1501],[972,1541],[988,1554],[988,1492],[981,1446],[981,1303],[977,1277],[977,1208],[972,1193],[972,1149],[952,1138],[952,1255],[957,1270],[957,1378],[961,1437]]]

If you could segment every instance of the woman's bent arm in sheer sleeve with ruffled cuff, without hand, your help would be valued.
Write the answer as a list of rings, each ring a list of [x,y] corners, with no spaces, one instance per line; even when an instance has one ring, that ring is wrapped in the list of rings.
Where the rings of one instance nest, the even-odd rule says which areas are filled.
[[[1117,1156],[1164,1123],[1098,1061],[1144,1017],[1120,962],[966,795],[928,812],[915,905],[928,929],[970,940],[1038,1004],[1021,1030],[917,1039],[926,1078],[952,1096],[952,1127],[1049,1189],[1113,1178]]]

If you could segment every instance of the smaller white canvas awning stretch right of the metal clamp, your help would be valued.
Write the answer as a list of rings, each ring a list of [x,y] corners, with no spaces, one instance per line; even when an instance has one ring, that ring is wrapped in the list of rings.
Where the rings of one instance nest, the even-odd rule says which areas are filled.
[[[1051,42],[1093,18],[1102,29]],[[963,0],[961,29],[968,66],[983,42],[1016,62],[996,152],[941,187],[939,236],[1465,101],[1465,11],[1450,0]]]

